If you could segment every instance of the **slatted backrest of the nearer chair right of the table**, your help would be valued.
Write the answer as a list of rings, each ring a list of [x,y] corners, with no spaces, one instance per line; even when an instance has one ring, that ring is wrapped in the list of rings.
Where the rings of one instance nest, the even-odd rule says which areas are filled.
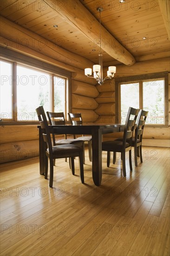
[[[125,127],[124,127],[124,137],[123,137],[123,146],[125,148],[126,140],[128,139],[129,144],[131,145],[133,131],[135,128],[135,123],[137,120],[137,115],[139,113],[139,109],[137,108],[129,108],[128,114],[126,117]]]

